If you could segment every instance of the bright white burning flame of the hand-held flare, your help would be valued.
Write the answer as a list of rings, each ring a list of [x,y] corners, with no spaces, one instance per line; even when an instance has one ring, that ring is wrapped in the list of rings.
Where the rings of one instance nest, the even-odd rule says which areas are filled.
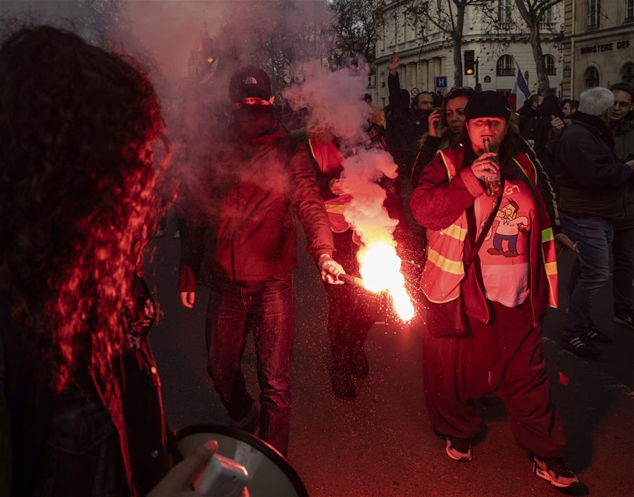
[[[389,241],[371,241],[357,255],[359,272],[366,289],[378,293],[387,291],[399,318],[408,322],[414,317],[414,305],[405,289],[401,258]]]

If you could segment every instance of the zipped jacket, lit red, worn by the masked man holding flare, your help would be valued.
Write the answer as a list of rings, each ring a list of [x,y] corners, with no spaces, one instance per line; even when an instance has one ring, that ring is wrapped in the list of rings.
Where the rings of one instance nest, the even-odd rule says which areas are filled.
[[[222,146],[222,145],[221,145]],[[180,291],[194,291],[201,261],[214,275],[260,282],[296,267],[292,208],[309,251],[332,254],[332,232],[306,146],[292,149],[281,127],[217,150],[206,199],[196,199],[182,237]],[[210,230],[211,244],[204,237]]]

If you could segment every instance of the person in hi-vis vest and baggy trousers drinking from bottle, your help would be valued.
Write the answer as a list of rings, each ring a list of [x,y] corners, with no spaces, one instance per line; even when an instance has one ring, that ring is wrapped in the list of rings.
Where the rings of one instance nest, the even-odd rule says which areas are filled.
[[[470,461],[481,423],[474,399],[497,392],[518,444],[533,453],[535,474],[576,486],[562,459],[566,441],[551,403],[540,324],[547,304],[557,306],[555,239],[573,244],[554,235],[559,219],[549,180],[525,153],[504,97],[476,93],[465,115],[464,146],[439,151],[411,198],[428,234],[421,290],[429,419],[447,437],[449,458]],[[498,191],[487,191],[485,180],[500,175]]]

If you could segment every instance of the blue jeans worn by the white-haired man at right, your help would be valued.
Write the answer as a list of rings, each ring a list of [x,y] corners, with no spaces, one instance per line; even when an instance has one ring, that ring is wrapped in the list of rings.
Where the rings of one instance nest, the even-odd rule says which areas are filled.
[[[610,277],[612,225],[603,218],[574,218],[561,213],[564,231],[578,248],[578,275],[569,288],[570,301],[562,338],[584,335],[592,324],[592,301]]]

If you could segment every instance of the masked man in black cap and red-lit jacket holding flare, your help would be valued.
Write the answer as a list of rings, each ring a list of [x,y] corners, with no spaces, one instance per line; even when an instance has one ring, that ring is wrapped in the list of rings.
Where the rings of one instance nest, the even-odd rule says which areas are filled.
[[[179,290],[194,306],[196,275],[211,270],[206,313],[209,375],[234,427],[254,433],[282,454],[290,429],[290,358],[294,336],[292,270],[296,235],[292,209],[324,281],[338,284],[328,222],[311,158],[293,149],[273,113],[268,75],[254,67],[230,80],[232,122],[211,152],[209,178],[183,234]],[[209,229],[211,241],[205,244]],[[240,360],[246,335],[256,345],[259,413]]]

